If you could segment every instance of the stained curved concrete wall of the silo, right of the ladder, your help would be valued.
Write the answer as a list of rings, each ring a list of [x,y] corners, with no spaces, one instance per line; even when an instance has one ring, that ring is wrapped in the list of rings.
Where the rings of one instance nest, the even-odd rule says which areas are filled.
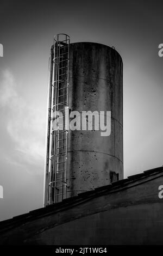
[[[67,196],[110,184],[110,171],[123,179],[123,64],[113,48],[92,42],[70,45],[71,111],[111,111],[111,135],[69,131]]]

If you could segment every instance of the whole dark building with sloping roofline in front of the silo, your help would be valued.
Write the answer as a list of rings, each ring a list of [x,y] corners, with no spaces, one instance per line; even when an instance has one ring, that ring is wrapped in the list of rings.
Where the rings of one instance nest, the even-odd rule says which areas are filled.
[[[0,244],[163,245],[163,167],[0,222]]]

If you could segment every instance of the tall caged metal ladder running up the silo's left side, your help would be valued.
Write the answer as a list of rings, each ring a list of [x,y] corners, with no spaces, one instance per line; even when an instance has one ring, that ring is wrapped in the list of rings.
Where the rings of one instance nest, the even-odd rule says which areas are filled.
[[[70,37],[56,35],[52,61],[47,204],[66,198],[69,56]]]

